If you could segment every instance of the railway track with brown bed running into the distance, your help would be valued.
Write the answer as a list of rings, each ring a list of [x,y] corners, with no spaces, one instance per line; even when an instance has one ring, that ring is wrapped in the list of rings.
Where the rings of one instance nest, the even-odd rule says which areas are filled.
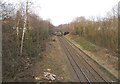
[[[72,73],[74,73],[73,77],[77,82],[104,82],[108,84],[114,81],[100,69],[100,65],[69,40],[64,37],[58,37],[58,39],[69,61]]]

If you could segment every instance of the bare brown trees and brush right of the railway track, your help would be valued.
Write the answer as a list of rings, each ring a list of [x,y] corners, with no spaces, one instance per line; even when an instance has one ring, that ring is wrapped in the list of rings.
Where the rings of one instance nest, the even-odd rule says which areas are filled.
[[[79,35],[93,44],[118,53],[118,6],[114,6],[104,18],[78,17],[69,24],[61,25],[72,35]]]

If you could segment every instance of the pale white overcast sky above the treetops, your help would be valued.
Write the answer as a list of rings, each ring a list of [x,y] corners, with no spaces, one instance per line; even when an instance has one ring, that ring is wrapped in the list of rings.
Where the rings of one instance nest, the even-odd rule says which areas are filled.
[[[4,0],[15,3],[15,0]],[[19,0],[16,0],[19,1]],[[25,1],[25,0],[21,0]],[[29,0],[32,9],[44,20],[58,26],[71,22],[76,17],[104,17],[120,0]]]

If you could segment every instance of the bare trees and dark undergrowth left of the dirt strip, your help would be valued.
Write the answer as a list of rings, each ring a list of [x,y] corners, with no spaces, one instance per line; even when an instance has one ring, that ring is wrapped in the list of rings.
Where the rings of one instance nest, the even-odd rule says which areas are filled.
[[[28,14],[25,25],[25,10],[16,10],[15,5],[0,2],[2,8],[2,75],[3,82],[18,81],[17,75],[28,69],[35,59],[41,57],[45,43],[50,36],[53,25],[34,13]],[[22,55],[20,47],[24,25]]]

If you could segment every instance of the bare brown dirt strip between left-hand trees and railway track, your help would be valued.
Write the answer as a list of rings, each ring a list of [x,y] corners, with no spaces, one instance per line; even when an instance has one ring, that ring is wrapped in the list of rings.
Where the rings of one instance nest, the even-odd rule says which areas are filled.
[[[64,54],[61,50],[57,37],[52,37],[46,45],[42,59],[38,59],[33,67],[33,74],[36,81],[49,81],[43,76],[44,72],[56,75],[55,81],[71,81],[70,71],[66,65]]]

